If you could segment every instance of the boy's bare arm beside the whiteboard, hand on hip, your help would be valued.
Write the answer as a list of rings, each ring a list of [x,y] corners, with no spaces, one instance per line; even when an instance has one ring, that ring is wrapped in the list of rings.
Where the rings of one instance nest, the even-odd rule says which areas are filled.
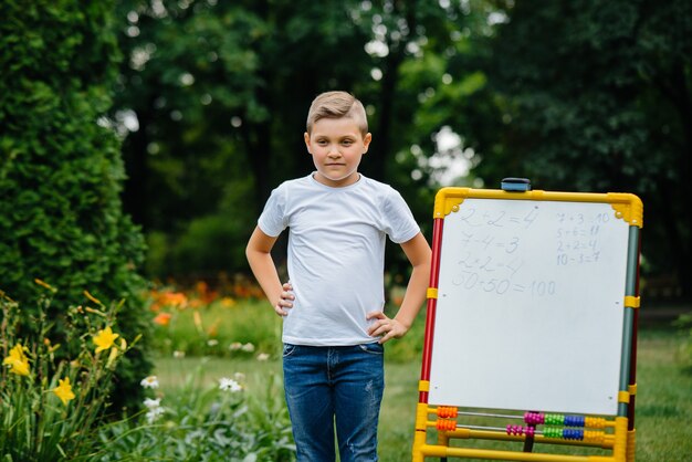
[[[403,242],[401,249],[403,249],[403,253],[406,253],[413,271],[411,272],[411,277],[406,287],[406,294],[403,295],[399,312],[394,318],[387,317],[382,312],[368,313],[368,319],[377,319],[368,329],[368,334],[374,337],[380,336],[380,344],[392,338],[403,337],[411,328],[426,300],[426,293],[430,282],[430,259],[432,251],[426,238],[419,232],[413,239]]]

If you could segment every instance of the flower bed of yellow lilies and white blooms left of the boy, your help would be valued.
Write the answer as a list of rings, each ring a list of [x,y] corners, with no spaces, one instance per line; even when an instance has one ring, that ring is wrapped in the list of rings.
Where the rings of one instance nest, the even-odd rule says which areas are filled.
[[[138,378],[157,399],[145,400],[146,412],[113,420],[114,371],[138,340],[128,345],[120,335],[104,337],[108,328],[117,333],[120,306],[70,307],[65,329],[81,349],[60,359],[54,323],[46,317],[50,303],[50,296],[42,297],[39,317],[28,318],[15,302],[6,295],[0,298],[3,460],[292,460],[294,445],[280,385],[264,380],[264,392],[252,398],[245,397],[242,375],[209,387],[201,381],[203,361],[169,395],[158,391],[156,377]],[[38,326],[35,336],[15,335],[30,323]],[[97,347],[103,349],[96,351]]]

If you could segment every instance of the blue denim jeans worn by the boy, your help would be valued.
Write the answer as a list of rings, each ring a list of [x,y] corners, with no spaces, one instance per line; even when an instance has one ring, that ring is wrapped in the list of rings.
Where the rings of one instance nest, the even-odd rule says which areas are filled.
[[[333,347],[284,344],[284,388],[298,462],[335,460],[335,422],[340,462],[378,460],[384,353],[377,343]]]

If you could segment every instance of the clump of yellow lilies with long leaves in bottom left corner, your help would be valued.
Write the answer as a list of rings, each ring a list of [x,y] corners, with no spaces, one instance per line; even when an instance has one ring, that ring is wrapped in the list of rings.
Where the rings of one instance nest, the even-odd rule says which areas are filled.
[[[116,366],[136,343],[130,338],[128,346],[122,336],[105,338],[99,342],[105,349],[95,351],[94,339],[117,325],[119,306],[107,311],[71,306],[64,329],[78,350],[60,358],[64,347],[46,316],[50,305],[51,297],[42,296],[32,311],[35,315],[27,316],[25,306],[20,309],[7,295],[0,297],[0,453],[4,460],[90,460],[98,426],[111,412]]]

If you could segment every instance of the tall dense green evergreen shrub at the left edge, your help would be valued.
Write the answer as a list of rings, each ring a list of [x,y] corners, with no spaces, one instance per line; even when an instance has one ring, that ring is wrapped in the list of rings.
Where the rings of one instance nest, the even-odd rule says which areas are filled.
[[[38,316],[33,280],[60,287],[48,313],[59,327],[66,306],[86,303],[84,290],[124,298],[118,327],[132,338],[146,329],[136,273],[144,244],[120,210],[119,140],[97,123],[120,56],[113,4],[4,1],[0,15],[2,290]],[[67,340],[65,356],[78,348]],[[118,397],[136,397],[133,379],[149,367],[138,345],[118,369]]]

